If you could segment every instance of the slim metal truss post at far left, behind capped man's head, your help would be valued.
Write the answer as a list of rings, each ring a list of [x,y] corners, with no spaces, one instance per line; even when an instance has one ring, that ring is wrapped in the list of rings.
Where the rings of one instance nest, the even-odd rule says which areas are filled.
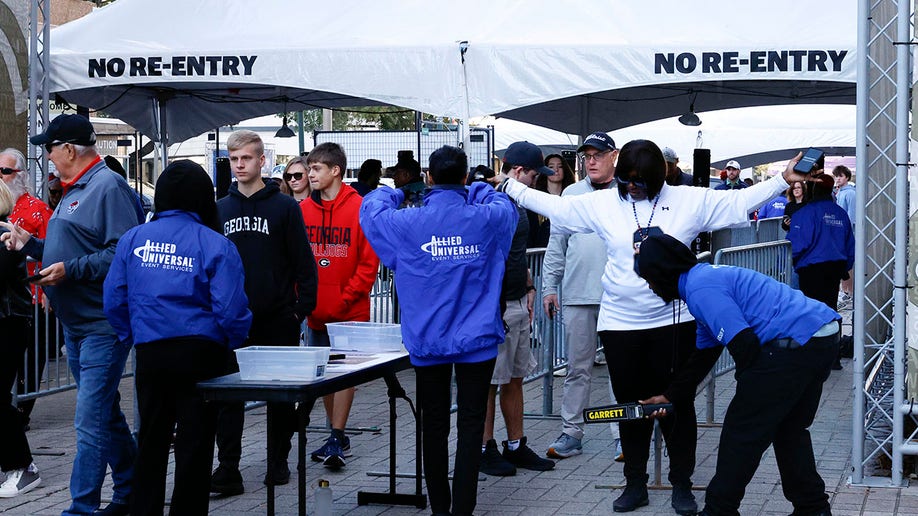
[[[29,9],[29,134],[38,134],[48,125],[48,63],[51,41],[51,0],[32,0]],[[41,147],[29,145],[29,177],[39,195],[47,176],[48,157]],[[42,195],[42,197],[44,197]],[[47,198],[47,197],[44,197]]]

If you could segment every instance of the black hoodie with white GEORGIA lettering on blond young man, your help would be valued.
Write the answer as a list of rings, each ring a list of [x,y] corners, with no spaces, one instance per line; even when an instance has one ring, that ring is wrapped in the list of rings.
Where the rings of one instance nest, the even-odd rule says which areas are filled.
[[[234,183],[217,211],[223,235],[242,257],[252,315],[302,321],[316,306],[316,270],[296,201],[274,181],[250,197]]]

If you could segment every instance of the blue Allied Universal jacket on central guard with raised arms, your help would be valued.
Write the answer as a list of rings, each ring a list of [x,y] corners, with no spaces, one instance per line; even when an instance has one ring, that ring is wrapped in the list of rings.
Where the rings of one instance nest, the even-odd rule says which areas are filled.
[[[400,190],[364,197],[360,224],[395,272],[402,340],[416,366],[473,363],[497,356],[504,262],[516,206],[485,183],[430,189],[420,208],[398,210]]]

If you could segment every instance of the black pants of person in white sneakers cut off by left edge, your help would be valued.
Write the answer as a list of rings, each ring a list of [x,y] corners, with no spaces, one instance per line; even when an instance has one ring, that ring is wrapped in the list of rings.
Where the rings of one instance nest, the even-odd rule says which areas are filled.
[[[0,317],[0,470],[23,469],[32,463],[22,416],[13,406],[16,371],[30,342],[30,319]]]

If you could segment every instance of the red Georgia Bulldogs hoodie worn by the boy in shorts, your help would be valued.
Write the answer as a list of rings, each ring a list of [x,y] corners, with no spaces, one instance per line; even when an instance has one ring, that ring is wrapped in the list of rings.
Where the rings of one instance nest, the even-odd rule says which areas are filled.
[[[309,327],[324,330],[325,323],[370,320],[370,290],[376,282],[379,258],[360,228],[363,198],[346,184],[333,201],[319,193],[300,203],[306,235],[319,272],[316,308]]]

